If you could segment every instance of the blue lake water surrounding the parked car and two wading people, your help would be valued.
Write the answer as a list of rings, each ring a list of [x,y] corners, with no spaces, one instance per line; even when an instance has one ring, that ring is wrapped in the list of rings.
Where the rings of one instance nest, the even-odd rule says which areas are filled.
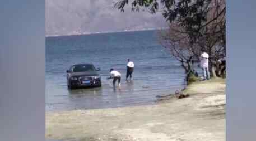
[[[127,59],[134,64],[133,82],[125,81]],[[103,86],[68,90],[66,70],[76,63],[100,67]],[[113,67],[122,74],[122,88],[114,90]],[[184,87],[184,70],[157,41],[157,31],[46,37],[46,111],[97,109],[154,104],[156,95]]]

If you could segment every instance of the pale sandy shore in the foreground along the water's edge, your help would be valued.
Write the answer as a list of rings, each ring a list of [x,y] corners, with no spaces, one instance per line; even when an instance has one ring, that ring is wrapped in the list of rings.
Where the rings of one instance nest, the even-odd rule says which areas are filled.
[[[46,113],[46,138],[60,140],[225,140],[225,81],[189,85],[184,99],[156,105]]]

